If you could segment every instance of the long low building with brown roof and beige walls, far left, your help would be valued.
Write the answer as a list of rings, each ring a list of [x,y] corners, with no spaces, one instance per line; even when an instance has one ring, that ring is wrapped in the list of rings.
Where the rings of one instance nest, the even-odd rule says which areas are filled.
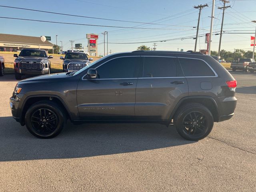
[[[23,48],[44,49],[46,51],[53,49],[49,41],[42,42],[41,37],[0,34],[0,51],[17,51]]]

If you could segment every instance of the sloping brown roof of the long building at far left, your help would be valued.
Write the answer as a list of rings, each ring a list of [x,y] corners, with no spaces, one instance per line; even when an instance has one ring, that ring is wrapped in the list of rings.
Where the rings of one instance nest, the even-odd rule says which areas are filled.
[[[45,42],[42,42],[41,37],[11,35],[11,34],[0,34],[0,42],[53,45],[51,42],[47,40]]]

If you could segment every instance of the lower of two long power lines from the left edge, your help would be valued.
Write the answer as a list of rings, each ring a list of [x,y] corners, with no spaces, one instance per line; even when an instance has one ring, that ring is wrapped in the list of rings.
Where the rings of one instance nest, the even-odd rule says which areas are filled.
[[[57,22],[57,21],[22,19],[22,18],[13,18],[13,17],[0,17],[0,18],[4,18],[4,19],[14,19],[14,20],[26,20],[26,21],[37,21],[37,22],[46,22],[46,23],[70,24],[70,25],[96,26],[96,27],[132,28],[132,29],[154,29],[154,30],[183,30],[183,29],[170,29],[170,28],[140,28],[140,27],[122,27],[122,26],[108,26],[108,25],[92,25],[92,24],[81,24],[81,23],[68,23],[68,22]]]

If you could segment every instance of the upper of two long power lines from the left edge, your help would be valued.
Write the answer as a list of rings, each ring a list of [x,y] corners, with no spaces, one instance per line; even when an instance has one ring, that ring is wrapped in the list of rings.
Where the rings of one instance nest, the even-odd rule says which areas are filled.
[[[168,25],[168,24],[157,24],[157,23],[151,23],[151,22],[146,23],[146,22],[136,22],[136,21],[116,20],[116,19],[106,19],[106,18],[89,17],[89,16],[82,16],[82,15],[64,14],[64,13],[58,13],[58,12],[50,12],[50,11],[35,10],[35,9],[20,8],[20,7],[12,7],[12,6],[3,6],[3,5],[0,5],[0,7],[20,9],[20,10],[29,10],[29,11],[36,11],[36,12],[43,12],[43,13],[50,13],[50,14],[58,14],[58,15],[65,15],[65,16],[74,16],[74,17],[109,20],[109,21],[118,21],[118,22],[130,22],[130,23],[141,23],[141,24],[150,24],[150,25],[164,25],[164,26],[177,26],[177,25]],[[191,27],[191,26],[182,26],[182,27]]]

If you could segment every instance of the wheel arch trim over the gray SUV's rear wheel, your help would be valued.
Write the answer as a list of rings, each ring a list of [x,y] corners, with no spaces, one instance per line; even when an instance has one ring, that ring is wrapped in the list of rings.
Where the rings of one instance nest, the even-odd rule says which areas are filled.
[[[218,110],[218,105],[217,105],[216,101],[214,100],[214,98],[212,98],[211,96],[187,96],[187,97],[182,98],[174,107],[174,110],[172,111],[172,113],[170,115],[170,120],[174,118],[177,110],[180,107],[184,106],[185,104],[192,103],[192,102],[200,103],[200,104],[206,106],[212,113],[214,122],[219,121],[220,112]]]

